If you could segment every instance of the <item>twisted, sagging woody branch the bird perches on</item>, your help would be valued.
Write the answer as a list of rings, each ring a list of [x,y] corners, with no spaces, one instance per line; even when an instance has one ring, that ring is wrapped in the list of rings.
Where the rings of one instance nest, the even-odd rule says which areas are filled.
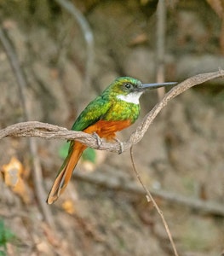
[[[123,143],[123,150],[128,150],[133,144],[141,141],[142,137],[146,133],[149,125],[156,118],[158,113],[167,105],[167,103],[175,96],[180,95],[185,90],[191,88],[194,85],[202,84],[211,79],[218,79],[224,77],[224,70],[219,70],[214,73],[203,73],[193,76],[190,79],[186,79],[181,84],[176,85],[173,89],[169,90],[165,94],[161,102],[152,108],[152,110],[146,114],[145,118],[136,130],[131,134],[129,140]],[[119,143],[105,143],[102,142],[99,146],[98,139],[94,135],[84,133],[83,131],[69,131],[64,127],[57,125],[50,125],[37,121],[23,122],[15,125],[10,125],[3,130],[0,130],[0,139],[3,137],[42,137],[45,139],[60,138],[66,140],[78,140],[80,143],[87,145],[90,148],[107,150],[115,153],[120,152]]]

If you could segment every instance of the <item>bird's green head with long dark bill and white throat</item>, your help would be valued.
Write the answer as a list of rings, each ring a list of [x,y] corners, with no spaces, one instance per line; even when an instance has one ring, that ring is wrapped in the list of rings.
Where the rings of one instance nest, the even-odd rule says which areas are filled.
[[[115,79],[105,90],[111,98],[116,98],[125,102],[139,104],[139,98],[146,90],[152,90],[159,87],[176,83],[155,83],[142,84],[140,80],[129,77],[120,77]]]

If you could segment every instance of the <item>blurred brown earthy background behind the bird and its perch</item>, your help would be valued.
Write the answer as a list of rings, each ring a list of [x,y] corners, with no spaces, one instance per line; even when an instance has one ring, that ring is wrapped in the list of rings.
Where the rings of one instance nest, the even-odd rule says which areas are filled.
[[[70,129],[118,76],[181,82],[224,67],[222,0],[1,0],[0,21],[1,129],[27,119]],[[134,148],[180,255],[224,250],[223,89],[216,79],[176,97]],[[120,140],[158,98],[142,96],[141,117]],[[65,148],[1,140],[0,255],[174,255],[129,152],[89,150],[48,206]]]

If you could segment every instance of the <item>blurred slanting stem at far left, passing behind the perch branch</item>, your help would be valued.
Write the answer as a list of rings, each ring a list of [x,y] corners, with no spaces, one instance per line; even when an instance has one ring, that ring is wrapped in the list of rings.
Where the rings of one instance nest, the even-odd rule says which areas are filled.
[[[18,61],[17,55],[14,50],[13,44],[10,42],[6,32],[4,32],[3,28],[0,27],[0,41],[3,44],[3,49],[5,50],[6,55],[9,59],[9,64],[12,67],[12,70],[14,72],[15,79],[17,81],[19,91],[20,91],[20,100],[22,103],[22,108],[24,112],[24,119],[27,121],[32,118],[32,114],[30,113],[30,110],[27,106],[26,101],[26,88],[27,88],[27,82],[25,79],[25,74],[23,73],[22,68],[20,67],[20,62]],[[41,211],[43,212],[43,218],[47,221],[49,226],[52,229],[55,229],[54,220],[52,218],[51,212],[49,210],[49,207],[47,207],[45,203],[45,192],[43,189],[43,177],[42,177],[42,168],[40,164],[40,160],[37,156],[37,143],[35,138],[29,138],[29,147],[32,154],[32,160],[33,160],[33,180],[34,180],[34,186],[37,196],[37,201],[39,204],[39,207],[41,208]]]

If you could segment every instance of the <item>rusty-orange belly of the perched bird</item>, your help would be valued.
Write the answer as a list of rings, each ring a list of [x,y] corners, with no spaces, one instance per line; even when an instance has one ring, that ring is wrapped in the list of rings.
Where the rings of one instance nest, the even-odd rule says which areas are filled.
[[[96,132],[100,137],[110,140],[115,137],[115,132],[121,131],[131,125],[130,120],[106,121],[100,120],[84,130],[87,133]]]

